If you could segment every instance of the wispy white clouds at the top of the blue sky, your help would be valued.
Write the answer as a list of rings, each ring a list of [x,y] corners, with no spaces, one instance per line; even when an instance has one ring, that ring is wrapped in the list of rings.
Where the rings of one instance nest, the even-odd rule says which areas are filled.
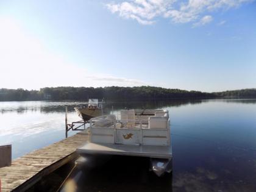
[[[209,23],[209,12],[236,8],[254,0],[130,0],[109,3],[112,13],[140,24],[154,24],[157,17],[170,18],[174,23]],[[210,16],[210,17],[209,17]]]

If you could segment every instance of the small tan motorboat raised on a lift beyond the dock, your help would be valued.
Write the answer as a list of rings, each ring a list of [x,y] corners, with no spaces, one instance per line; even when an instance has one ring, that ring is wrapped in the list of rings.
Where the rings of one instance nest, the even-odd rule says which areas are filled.
[[[78,116],[84,119],[84,121],[88,121],[91,118],[96,116],[103,115],[103,100],[99,101],[99,99],[89,99],[89,101],[80,107],[75,107]]]

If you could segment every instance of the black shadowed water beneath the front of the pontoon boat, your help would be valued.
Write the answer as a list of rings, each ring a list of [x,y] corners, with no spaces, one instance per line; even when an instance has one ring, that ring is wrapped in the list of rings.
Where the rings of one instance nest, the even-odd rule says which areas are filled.
[[[78,191],[172,191],[172,174],[155,176],[149,158],[112,156],[103,165],[81,169],[75,182]],[[64,190],[63,190],[64,192]]]

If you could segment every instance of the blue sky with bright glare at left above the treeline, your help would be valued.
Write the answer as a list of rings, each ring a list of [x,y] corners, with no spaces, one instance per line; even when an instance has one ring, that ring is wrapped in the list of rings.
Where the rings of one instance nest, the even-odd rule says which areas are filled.
[[[0,0],[0,88],[255,88],[255,18],[252,0]]]

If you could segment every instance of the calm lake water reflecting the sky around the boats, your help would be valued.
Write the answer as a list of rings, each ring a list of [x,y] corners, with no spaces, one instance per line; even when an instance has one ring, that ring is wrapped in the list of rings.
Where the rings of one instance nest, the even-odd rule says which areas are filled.
[[[0,145],[12,144],[16,158],[62,140],[65,106],[69,121],[75,121],[76,104],[0,102]],[[107,112],[112,105],[115,110],[169,110],[173,151],[169,190],[256,191],[256,100],[112,102]]]

